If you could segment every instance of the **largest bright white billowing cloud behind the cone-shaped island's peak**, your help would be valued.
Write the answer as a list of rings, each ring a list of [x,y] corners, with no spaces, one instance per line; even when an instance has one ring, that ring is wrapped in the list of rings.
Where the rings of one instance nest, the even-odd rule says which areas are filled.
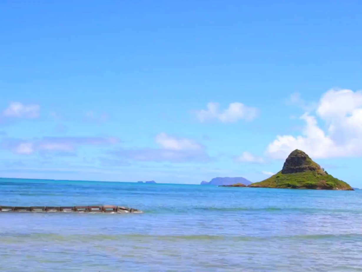
[[[318,126],[317,117],[327,127]],[[300,149],[313,158],[362,155],[362,92],[330,90],[317,106],[315,116],[308,112],[300,116],[306,122],[302,135],[277,136],[266,153],[284,159],[294,149]]]

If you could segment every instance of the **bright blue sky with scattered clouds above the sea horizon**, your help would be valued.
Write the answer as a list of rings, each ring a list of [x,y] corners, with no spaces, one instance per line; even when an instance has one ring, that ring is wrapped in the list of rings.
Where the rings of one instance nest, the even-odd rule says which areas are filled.
[[[3,177],[362,187],[361,1],[1,1]]]

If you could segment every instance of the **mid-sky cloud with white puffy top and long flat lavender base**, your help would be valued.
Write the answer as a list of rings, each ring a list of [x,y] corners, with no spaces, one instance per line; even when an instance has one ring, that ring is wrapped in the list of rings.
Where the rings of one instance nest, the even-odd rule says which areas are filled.
[[[155,162],[210,161],[205,147],[191,139],[169,136],[162,132],[155,137],[160,148],[125,149],[111,152],[122,159]]]

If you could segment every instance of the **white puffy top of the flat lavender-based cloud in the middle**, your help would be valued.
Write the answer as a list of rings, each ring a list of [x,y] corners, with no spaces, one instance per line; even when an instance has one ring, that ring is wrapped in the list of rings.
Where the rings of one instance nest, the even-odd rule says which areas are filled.
[[[156,143],[164,149],[170,150],[197,150],[201,149],[201,144],[197,143],[194,140],[186,138],[177,138],[167,135],[164,132],[161,132],[156,136]]]

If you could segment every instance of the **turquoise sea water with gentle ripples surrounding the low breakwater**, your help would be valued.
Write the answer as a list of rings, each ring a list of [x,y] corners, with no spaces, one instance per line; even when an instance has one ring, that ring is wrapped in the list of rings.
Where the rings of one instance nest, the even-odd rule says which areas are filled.
[[[362,271],[362,191],[0,179],[0,271]]]

